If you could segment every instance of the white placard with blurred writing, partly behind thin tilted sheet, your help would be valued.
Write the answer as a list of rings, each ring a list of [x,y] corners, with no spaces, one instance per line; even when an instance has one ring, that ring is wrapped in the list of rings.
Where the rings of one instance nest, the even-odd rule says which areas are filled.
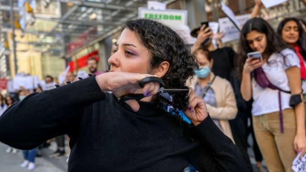
[[[240,16],[236,16],[237,20],[239,21],[240,25],[244,25],[250,18],[250,14],[244,14]],[[224,37],[222,38],[222,42],[226,43],[229,41],[237,40],[240,36],[240,31],[234,26],[234,24],[229,20],[228,17],[220,18],[220,32],[224,32]]]

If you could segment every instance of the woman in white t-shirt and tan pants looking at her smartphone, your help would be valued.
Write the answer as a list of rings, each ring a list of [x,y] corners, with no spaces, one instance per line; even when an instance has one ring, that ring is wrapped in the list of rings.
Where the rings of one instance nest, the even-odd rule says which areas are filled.
[[[247,58],[247,53],[255,51],[262,54],[262,61]],[[299,58],[261,18],[243,26],[238,58],[241,95],[246,101],[253,97],[253,128],[267,167],[269,171],[291,171],[297,153],[306,152]],[[289,103],[291,97],[300,101]]]

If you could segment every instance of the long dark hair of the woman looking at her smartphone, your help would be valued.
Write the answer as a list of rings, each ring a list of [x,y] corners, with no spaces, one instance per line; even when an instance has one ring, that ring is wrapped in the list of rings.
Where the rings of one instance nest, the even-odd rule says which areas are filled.
[[[266,35],[267,47],[264,53],[267,55],[268,58],[274,52],[280,53],[283,49],[288,48],[288,45],[274,32],[274,30],[267,23],[267,21],[263,20],[262,18],[253,18],[248,20],[243,25],[243,28],[240,33],[238,58],[236,61],[239,76],[241,76],[244,62],[247,59],[247,53],[253,52],[246,40],[246,35],[253,30],[256,30],[257,32]]]

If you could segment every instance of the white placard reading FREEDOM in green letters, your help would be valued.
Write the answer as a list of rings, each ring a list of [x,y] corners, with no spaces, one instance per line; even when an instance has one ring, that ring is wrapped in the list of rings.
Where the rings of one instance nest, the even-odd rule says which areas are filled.
[[[187,10],[152,10],[144,7],[138,8],[139,19],[158,20],[168,26],[187,25]]]

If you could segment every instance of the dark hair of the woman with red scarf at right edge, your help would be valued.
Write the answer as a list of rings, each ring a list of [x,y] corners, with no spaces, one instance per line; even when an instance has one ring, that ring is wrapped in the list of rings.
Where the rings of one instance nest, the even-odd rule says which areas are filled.
[[[297,25],[298,25],[298,31],[299,31],[299,40],[296,42],[299,47],[302,49],[302,52],[304,53],[304,59],[306,59],[306,34],[305,34],[305,31],[301,25],[300,22],[302,22],[303,20],[299,20],[295,17],[290,17],[290,18],[285,18],[284,20],[282,20],[280,22],[280,24],[278,25],[278,28],[277,28],[277,34],[281,37],[281,31],[283,30],[285,24],[288,22],[288,21],[294,21]]]

